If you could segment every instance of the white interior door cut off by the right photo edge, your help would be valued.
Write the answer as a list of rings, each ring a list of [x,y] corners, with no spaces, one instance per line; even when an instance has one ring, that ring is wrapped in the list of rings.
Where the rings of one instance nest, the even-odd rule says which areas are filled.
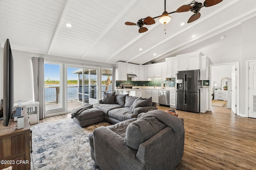
[[[249,62],[248,117],[256,118],[256,61]]]

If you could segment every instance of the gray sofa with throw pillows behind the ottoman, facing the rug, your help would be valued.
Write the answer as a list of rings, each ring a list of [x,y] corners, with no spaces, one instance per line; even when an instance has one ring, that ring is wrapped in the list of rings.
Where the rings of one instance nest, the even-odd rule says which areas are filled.
[[[93,104],[93,107],[103,111],[104,120],[112,124],[137,118],[140,113],[157,109],[152,98],[139,98],[115,92],[104,93],[104,98]]]

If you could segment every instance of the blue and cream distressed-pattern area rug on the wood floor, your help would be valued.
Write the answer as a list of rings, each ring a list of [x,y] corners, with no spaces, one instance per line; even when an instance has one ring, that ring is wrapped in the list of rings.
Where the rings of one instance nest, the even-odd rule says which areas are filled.
[[[31,125],[35,170],[100,170],[90,156],[88,135],[102,122],[85,128],[71,118]]]

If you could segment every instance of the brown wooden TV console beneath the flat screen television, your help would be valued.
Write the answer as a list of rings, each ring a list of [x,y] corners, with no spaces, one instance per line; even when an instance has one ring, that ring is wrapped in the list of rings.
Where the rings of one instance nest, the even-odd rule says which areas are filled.
[[[14,114],[14,113],[13,113]],[[9,126],[0,121],[0,169],[12,166],[14,170],[33,169],[30,156],[32,151],[32,131],[26,107],[23,107],[24,128],[17,128],[17,121],[10,119]]]

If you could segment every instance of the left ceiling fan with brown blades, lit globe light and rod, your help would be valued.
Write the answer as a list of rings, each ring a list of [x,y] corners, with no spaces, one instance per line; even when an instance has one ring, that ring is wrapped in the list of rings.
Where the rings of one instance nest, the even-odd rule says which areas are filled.
[[[175,12],[175,11],[174,11]],[[139,33],[144,33],[146,31],[148,31],[148,29],[146,27],[144,27],[144,25],[152,25],[154,23],[156,23],[156,21],[154,20],[155,18],[159,18],[160,23],[162,24],[166,24],[168,22],[170,22],[171,17],[168,16],[169,14],[172,14],[174,12],[166,12],[166,0],[164,0],[164,12],[162,15],[157,16],[157,17],[150,17],[148,16],[147,18],[143,18],[138,20],[137,23],[133,23],[133,22],[125,22],[125,25],[138,25],[139,27]]]

